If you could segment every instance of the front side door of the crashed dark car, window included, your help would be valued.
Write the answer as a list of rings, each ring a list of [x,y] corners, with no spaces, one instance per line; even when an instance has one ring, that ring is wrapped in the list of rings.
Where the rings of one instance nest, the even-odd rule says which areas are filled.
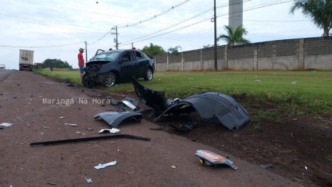
[[[120,57],[120,76],[121,79],[132,79],[133,76],[138,75],[138,62],[132,51],[126,51]]]

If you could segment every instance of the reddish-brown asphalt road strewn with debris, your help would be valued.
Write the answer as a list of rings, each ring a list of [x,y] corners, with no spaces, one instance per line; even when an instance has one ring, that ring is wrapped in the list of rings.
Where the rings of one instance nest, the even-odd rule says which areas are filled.
[[[111,126],[94,116],[117,110],[101,99],[121,101],[124,96],[67,86],[29,71],[0,71],[0,85],[0,123],[13,123],[0,129],[0,186],[301,186],[227,152],[151,131],[158,126],[144,119],[124,121],[119,134],[151,141],[116,138],[30,146],[40,141],[110,135],[98,133]],[[201,165],[195,156],[200,149],[229,156],[238,169]],[[94,168],[111,161],[116,165]],[[91,183],[86,181],[89,178]]]

